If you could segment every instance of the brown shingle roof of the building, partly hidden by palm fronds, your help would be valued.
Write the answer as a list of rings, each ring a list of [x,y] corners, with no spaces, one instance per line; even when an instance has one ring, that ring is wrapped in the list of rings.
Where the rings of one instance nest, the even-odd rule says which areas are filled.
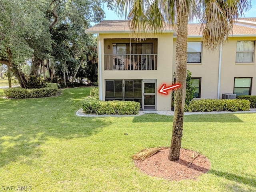
[[[254,21],[256,21],[256,18],[241,18],[237,20],[233,25],[233,32],[230,36],[256,36],[256,25],[254,26],[256,22]],[[188,37],[201,37],[200,25],[188,24]],[[127,20],[104,20],[85,32],[99,34],[130,33],[130,28]],[[175,30],[170,26],[163,32],[172,32],[175,35]]]

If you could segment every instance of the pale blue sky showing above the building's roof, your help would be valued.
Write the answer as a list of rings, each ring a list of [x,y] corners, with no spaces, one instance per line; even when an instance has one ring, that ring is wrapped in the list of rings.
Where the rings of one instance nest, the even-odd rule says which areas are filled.
[[[251,1],[252,8],[247,12],[244,12],[244,17],[256,17],[256,0]],[[105,20],[122,20],[124,18],[118,17],[114,11],[108,10],[107,6],[104,6],[104,11],[106,13]]]

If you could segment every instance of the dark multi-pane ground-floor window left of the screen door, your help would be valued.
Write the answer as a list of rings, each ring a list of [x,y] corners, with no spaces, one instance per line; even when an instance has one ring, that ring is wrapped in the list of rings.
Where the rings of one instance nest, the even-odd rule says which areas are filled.
[[[142,108],[142,80],[106,80],[106,101],[124,100],[140,103]]]

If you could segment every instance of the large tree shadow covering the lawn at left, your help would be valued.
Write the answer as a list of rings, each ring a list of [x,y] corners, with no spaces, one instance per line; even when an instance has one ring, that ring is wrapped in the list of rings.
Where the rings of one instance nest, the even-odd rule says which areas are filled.
[[[89,89],[62,92],[61,96],[51,98],[0,99],[0,167],[16,160],[40,157],[40,147],[48,140],[88,137],[112,124],[105,118],[75,115]]]

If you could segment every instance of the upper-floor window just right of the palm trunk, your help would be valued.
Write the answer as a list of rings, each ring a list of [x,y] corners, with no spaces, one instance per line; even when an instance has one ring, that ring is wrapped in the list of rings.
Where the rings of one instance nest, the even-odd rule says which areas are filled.
[[[202,42],[188,42],[187,63],[201,63]]]

